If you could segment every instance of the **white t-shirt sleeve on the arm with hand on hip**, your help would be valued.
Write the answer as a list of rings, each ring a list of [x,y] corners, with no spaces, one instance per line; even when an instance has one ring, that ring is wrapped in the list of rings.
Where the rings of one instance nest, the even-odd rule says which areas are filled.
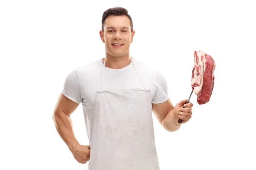
[[[62,94],[68,99],[80,104],[81,103],[81,86],[78,79],[76,69],[71,71],[65,81],[62,89]]]

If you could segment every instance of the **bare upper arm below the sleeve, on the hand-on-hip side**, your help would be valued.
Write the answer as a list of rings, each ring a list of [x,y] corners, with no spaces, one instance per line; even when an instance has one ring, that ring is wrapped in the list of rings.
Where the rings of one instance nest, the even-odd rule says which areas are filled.
[[[61,93],[55,105],[54,113],[58,114],[62,111],[66,113],[67,116],[70,116],[71,113],[73,113],[78,106],[79,106],[79,103],[76,103],[70,100],[69,98],[67,98]]]

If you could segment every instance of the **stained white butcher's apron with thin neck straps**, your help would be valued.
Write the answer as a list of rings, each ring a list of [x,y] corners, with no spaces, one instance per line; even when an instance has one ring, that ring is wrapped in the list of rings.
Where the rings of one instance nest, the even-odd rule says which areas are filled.
[[[93,103],[88,170],[159,170],[151,91],[140,80],[144,89],[105,91],[101,82]]]

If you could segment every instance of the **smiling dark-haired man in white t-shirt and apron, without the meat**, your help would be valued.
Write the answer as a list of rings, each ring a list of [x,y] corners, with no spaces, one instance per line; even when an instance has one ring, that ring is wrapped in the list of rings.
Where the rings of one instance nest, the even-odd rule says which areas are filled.
[[[130,57],[135,31],[125,8],[106,10],[99,33],[105,58],[67,76],[53,114],[56,129],[79,163],[90,160],[88,170],[159,170],[152,111],[172,132],[191,118],[192,103],[174,107],[163,74]],[[88,146],[72,130],[70,115],[79,103]]]

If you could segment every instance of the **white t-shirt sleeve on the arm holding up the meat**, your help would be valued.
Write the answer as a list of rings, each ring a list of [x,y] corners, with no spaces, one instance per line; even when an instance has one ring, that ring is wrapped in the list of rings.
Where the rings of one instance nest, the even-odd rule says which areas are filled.
[[[166,102],[169,99],[168,86],[167,86],[166,78],[160,71],[156,71],[155,86],[156,86],[156,93],[152,99],[152,103],[159,104],[159,103]]]

